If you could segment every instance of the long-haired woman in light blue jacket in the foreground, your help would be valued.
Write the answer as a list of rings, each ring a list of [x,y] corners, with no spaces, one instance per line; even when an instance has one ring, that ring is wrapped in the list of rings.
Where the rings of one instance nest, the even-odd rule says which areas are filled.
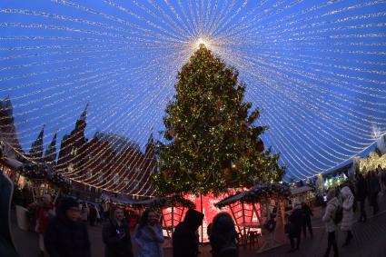
[[[134,242],[138,245],[137,257],[163,257],[163,228],[153,211],[146,209],[134,232]]]

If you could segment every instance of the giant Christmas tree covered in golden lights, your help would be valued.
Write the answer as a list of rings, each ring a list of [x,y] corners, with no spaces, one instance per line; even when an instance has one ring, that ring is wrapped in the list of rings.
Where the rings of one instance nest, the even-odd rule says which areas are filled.
[[[176,94],[163,117],[166,143],[159,143],[160,194],[223,193],[258,181],[280,181],[278,154],[264,151],[259,109],[244,102],[238,72],[203,44],[183,65]]]

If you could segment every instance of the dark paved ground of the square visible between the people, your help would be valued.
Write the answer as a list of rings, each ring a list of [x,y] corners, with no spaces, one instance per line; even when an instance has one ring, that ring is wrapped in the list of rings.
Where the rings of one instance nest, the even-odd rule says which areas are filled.
[[[354,238],[351,245],[341,248],[344,241],[344,234],[338,232],[338,246],[341,256],[350,257],[386,257],[386,194],[380,195],[381,212],[376,216],[371,216],[366,223],[355,223],[353,225]],[[367,206],[368,214],[371,213]],[[359,213],[356,213],[358,215]],[[312,221],[314,237],[302,239],[301,250],[298,252],[287,253],[290,249],[288,240],[282,236],[282,246],[272,249],[268,252],[257,254],[257,246],[250,248],[243,246],[240,249],[240,257],[250,256],[323,256],[327,245],[327,235],[324,232],[324,226],[320,219]],[[37,235],[34,232],[21,231],[15,225],[15,217],[12,223],[15,245],[21,257],[35,257],[38,252]],[[93,257],[104,256],[104,245],[101,239],[101,227],[89,228],[90,238],[92,241]],[[262,242],[260,242],[262,245]],[[135,251],[135,250],[134,250]],[[210,246],[204,245],[200,250],[200,257],[209,257]],[[171,257],[171,248],[164,249],[164,256]],[[330,256],[332,256],[332,252]]]

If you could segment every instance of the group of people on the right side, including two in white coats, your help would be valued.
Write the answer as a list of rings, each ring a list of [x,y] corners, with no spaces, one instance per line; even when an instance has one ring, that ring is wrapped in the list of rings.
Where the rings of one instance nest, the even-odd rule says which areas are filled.
[[[379,212],[378,194],[382,189],[386,191],[386,173],[381,167],[378,167],[376,171],[367,173],[366,177],[361,173],[357,173],[354,181],[343,183],[341,186],[332,188],[327,192],[326,209],[322,216],[322,222],[325,223],[328,234],[327,249],[324,256],[329,256],[331,249],[333,249],[334,256],[339,256],[335,233],[339,225],[341,232],[345,233],[345,240],[341,246],[346,247],[351,243],[354,212],[357,210],[358,204],[360,206],[358,222],[367,221],[366,199],[372,207],[372,213],[375,215]],[[304,238],[306,237],[306,227],[308,227],[312,236],[311,216],[312,211],[307,204],[295,204],[291,215],[288,216],[286,225],[286,232],[291,242],[289,252],[299,250],[302,232]]]

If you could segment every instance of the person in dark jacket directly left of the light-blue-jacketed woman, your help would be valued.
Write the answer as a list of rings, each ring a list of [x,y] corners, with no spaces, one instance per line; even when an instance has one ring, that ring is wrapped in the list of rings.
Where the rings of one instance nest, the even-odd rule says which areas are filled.
[[[129,225],[124,220],[124,211],[114,210],[114,217],[104,224],[104,257],[134,257]]]

